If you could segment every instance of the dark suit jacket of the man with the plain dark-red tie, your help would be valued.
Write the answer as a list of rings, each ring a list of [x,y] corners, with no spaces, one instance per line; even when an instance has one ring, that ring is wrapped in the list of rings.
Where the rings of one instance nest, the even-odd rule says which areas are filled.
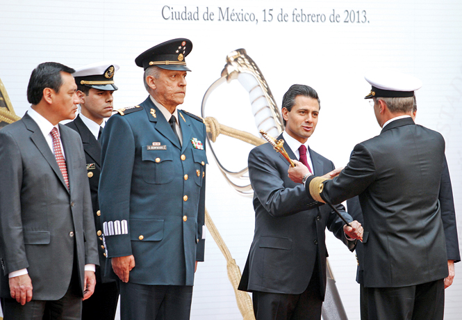
[[[282,139],[279,136],[278,139]],[[295,154],[288,145],[291,159]],[[317,175],[329,173],[332,161],[310,150],[313,170]],[[249,154],[249,177],[254,189],[255,234],[245,264],[239,289],[279,294],[301,294],[317,268],[320,297],[326,288],[326,226],[338,239],[347,241],[343,221],[327,206],[310,202],[304,185],[295,184],[287,175],[288,162],[269,143]],[[348,221],[351,217],[342,205],[337,206]],[[315,262],[317,261],[317,264]]]

